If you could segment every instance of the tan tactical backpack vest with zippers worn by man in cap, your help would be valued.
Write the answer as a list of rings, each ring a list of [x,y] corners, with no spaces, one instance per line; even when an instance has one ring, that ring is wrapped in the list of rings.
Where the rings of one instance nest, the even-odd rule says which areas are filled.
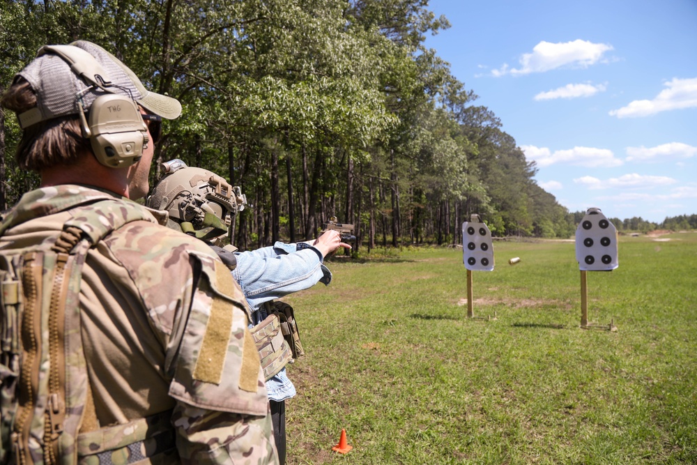
[[[80,331],[89,249],[128,222],[155,219],[107,195],[78,207],[62,230],[0,250],[0,464],[150,463],[174,449],[169,412],[97,427]],[[27,219],[3,215],[0,236]]]

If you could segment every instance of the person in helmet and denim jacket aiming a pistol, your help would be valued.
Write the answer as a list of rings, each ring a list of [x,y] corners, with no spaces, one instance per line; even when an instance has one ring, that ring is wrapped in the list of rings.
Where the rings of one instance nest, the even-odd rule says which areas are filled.
[[[272,247],[232,252],[228,248],[230,245],[222,245],[227,239],[233,215],[246,204],[241,189],[233,188],[224,178],[206,169],[187,167],[178,159],[165,162],[162,167],[164,175],[153,188],[146,205],[166,211],[169,227],[181,229],[209,243],[229,264],[252,310],[252,334],[266,372],[274,439],[282,465],[286,457],[286,400],[296,395],[285,365],[292,361],[291,353],[292,358],[296,358],[298,352],[302,354],[302,348],[298,350],[300,342],[293,337],[288,337],[292,349],[287,353],[284,345],[269,341],[276,333],[274,313],[280,315],[282,328],[291,328],[291,332],[297,333],[290,305],[277,299],[309,289],[317,282],[328,285],[332,273],[324,265],[324,258],[340,247],[350,249],[351,245],[342,242],[339,231],[330,230],[312,241],[277,242]],[[288,335],[284,333],[284,336]]]

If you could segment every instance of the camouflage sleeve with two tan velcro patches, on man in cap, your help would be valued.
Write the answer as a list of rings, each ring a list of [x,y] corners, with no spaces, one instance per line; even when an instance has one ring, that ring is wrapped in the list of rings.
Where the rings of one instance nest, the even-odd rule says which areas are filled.
[[[210,255],[191,251],[197,270],[169,395],[183,463],[276,464],[259,353],[247,330],[240,287]]]

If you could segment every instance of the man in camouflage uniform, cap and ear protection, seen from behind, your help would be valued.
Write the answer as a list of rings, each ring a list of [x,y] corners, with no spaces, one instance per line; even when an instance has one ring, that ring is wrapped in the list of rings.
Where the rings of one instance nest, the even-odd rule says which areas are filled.
[[[1,103],[41,185],[0,218],[0,463],[277,464],[240,287],[129,200],[179,102],[77,41],[42,47]]]

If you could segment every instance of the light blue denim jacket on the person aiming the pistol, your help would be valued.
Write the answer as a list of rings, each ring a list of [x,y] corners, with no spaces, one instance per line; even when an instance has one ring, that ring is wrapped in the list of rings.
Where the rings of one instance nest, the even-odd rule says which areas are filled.
[[[321,252],[305,243],[277,242],[273,247],[235,254],[237,266],[232,275],[252,309],[255,325],[268,316],[263,303],[309,289],[317,282],[327,285],[332,280],[332,273],[322,263]],[[276,402],[296,395],[285,368],[266,381],[266,390],[268,398]]]

